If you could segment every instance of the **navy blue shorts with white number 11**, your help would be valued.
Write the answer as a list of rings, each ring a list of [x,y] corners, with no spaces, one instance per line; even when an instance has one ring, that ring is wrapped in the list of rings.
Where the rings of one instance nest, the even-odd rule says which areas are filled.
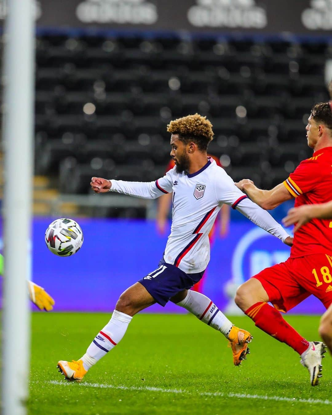
[[[167,264],[163,259],[158,264],[159,268],[150,272],[138,282],[146,288],[157,303],[163,307],[177,293],[189,290],[195,283],[200,281],[205,272],[186,274],[177,266]]]

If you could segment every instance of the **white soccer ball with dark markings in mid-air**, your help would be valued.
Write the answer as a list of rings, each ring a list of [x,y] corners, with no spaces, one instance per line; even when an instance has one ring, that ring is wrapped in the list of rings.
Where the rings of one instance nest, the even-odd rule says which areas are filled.
[[[71,256],[83,244],[83,232],[72,219],[61,218],[54,220],[45,232],[47,248],[55,255]]]

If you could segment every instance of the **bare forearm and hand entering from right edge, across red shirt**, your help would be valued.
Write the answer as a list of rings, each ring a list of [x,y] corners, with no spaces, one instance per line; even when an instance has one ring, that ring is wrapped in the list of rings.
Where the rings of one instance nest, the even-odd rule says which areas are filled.
[[[290,226],[296,223],[294,232],[311,219],[332,219],[332,200],[318,205],[302,205],[292,207],[287,216],[283,218],[283,224]]]

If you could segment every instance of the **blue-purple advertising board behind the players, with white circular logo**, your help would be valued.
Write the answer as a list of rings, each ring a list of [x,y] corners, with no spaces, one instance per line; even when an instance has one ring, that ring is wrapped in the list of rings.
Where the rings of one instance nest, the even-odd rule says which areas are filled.
[[[32,278],[54,297],[56,311],[112,312],[126,288],[157,268],[167,241],[167,233],[159,235],[152,220],[80,218],[83,246],[63,258],[46,248],[44,233],[50,222],[33,221]],[[1,245],[0,233],[0,249]],[[216,237],[212,243],[203,293],[225,312],[237,313],[236,287],[261,269],[284,261],[289,251],[249,220],[232,220],[227,237]],[[171,303],[146,311],[185,312]],[[321,314],[324,307],[311,296],[291,312]]]

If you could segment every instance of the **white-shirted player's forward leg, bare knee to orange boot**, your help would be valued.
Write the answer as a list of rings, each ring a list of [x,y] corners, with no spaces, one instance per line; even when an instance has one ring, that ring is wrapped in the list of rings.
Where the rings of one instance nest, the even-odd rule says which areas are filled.
[[[59,361],[59,371],[68,380],[81,381],[87,371],[120,342],[132,317],[155,302],[141,283],[129,287],[120,295],[110,321],[98,332],[81,359]]]

